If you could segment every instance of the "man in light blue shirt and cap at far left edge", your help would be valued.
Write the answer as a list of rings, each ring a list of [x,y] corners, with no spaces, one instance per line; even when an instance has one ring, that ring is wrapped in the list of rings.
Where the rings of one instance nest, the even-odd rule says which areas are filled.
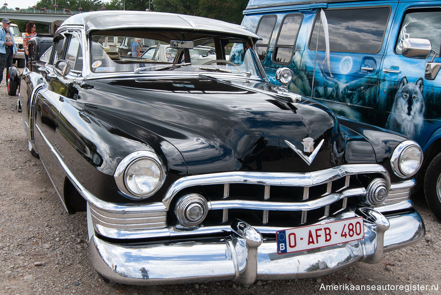
[[[14,37],[9,30],[11,21],[3,19],[1,22],[3,27],[0,29],[0,83],[3,80],[4,67],[12,67],[12,58],[17,53]]]

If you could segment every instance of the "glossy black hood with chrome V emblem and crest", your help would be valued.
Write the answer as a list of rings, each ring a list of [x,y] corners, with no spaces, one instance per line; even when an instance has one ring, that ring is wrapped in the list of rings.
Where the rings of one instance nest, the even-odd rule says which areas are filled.
[[[182,154],[189,174],[312,171],[339,164],[343,153],[340,128],[329,109],[306,98],[283,99],[266,83],[186,76],[99,80],[87,87],[91,96],[79,99],[131,122],[134,138],[143,141],[146,131],[164,138]],[[106,105],[109,101],[112,105]],[[314,149],[323,140],[310,165],[287,143],[309,157],[305,138]]]

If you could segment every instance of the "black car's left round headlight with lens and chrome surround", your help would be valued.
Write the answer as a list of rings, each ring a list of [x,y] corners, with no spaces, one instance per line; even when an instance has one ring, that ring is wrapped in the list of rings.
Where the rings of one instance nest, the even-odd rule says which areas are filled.
[[[160,158],[148,151],[131,153],[115,172],[118,188],[127,198],[143,199],[157,192],[164,183],[165,172]]]

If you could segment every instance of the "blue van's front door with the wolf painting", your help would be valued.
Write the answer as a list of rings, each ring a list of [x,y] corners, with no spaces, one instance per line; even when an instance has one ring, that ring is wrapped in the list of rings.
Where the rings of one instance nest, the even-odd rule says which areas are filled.
[[[424,147],[441,124],[441,75],[425,77],[433,56],[433,62],[441,62],[441,1],[403,2],[399,12],[381,65],[376,120]],[[434,53],[428,58],[403,56],[406,38],[430,40]]]

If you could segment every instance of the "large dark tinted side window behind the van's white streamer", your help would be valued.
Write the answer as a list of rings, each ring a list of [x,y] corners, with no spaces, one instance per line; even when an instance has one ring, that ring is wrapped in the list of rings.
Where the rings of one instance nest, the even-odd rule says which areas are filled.
[[[378,53],[383,43],[389,20],[390,7],[329,9],[325,10],[329,28],[329,49],[343,52]],[[320,11],[316,15],[308,47],[325,50],[325,34],[320,23]]]

